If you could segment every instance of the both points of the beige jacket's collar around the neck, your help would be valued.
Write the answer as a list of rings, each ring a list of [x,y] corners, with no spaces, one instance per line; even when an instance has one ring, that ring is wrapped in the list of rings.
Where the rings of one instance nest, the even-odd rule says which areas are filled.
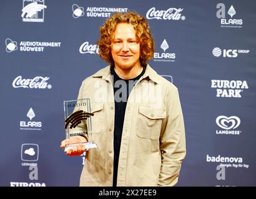
[[[142,79],[146,78],[147,76],[149,77],[150,80],[154,81],[155,83],[159,83],[159,75],[157,75],[157,72],[155,72],[155,70],[151,68],[149,64],[147,64],[147,68],[145,69],[145,73],[142,76]],[[101,77],[104,80],[111,81],[111,65],[102,68],[94,75],[92,75],[92,77]]]

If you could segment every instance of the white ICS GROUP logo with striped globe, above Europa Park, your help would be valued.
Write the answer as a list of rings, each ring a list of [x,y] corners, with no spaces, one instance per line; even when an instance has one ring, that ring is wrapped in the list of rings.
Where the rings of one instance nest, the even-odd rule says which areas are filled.
[[[212,49],[212,55],[214,55],[214,57],[236,58],[240,53],[247,54],[249,52],[250,50],[220,49],[219,47]]]

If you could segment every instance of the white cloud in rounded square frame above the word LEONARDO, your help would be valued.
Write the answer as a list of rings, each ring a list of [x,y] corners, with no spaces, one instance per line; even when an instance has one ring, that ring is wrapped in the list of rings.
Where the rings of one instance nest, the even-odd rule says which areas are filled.
[[[38,144],[22,144],[21,145],[21,160],[27,162],[36,162],[39,157]]]

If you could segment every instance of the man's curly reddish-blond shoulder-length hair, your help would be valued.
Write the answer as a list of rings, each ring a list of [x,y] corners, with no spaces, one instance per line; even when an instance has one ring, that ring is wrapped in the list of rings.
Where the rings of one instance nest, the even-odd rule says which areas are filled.
[[[122,22],[134,27],[136,39],[140,44],[140,63],[142,66],[146,65],[147,61],[154,56],[154,39],[150,34],[147,20],[135,12],[116,12],[101,26],[101,37],[97,42],[99,55],[106,62],[114,65],[111,54],[112,40],[114,39],[116,25]]]

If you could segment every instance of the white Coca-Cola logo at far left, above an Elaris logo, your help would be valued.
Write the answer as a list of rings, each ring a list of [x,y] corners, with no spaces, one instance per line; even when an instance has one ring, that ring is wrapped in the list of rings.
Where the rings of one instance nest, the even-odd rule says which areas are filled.
[[[40,88],[40,89],[51,89],[52,85],[49,85],[47,83],[47,80],[49,80],[48,76],[42,77],[42,76],[36,76],[32,79],[25,79],[22,78],[22,76],[17,76],[12,81],[13,88]]]

